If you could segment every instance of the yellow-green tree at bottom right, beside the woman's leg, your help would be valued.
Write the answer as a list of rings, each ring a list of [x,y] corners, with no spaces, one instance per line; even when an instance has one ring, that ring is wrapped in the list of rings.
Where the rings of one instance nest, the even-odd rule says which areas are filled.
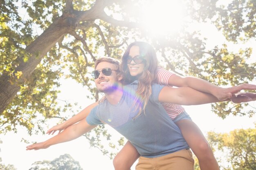
[[[224,170],[255,170],[256,169],[256,128],[236,129],[229,133],[208,132],[208,141],[226,160],[221,163]],[[225,166],[227,165],[228,166]]]

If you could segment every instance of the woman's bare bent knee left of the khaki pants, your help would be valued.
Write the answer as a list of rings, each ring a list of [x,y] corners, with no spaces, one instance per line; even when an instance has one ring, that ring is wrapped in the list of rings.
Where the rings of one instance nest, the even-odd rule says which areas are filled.
[[[139,158],[139,153],[132,146],[130,141],[127,141],[124,147],[118,152],[113,159],[115,170],[130,170],[131,166]]]

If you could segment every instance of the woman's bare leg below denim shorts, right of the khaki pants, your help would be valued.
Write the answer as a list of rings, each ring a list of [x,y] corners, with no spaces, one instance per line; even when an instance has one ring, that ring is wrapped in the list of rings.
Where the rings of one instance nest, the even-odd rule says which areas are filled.
[[[198,126],[189,119],[176,121],[187,144],[198,158],[201,170],[220,170],[213,151]]]

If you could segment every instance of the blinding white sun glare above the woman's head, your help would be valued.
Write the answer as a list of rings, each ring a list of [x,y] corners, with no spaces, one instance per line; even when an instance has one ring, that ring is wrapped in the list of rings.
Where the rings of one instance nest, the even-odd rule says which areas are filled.
[[[174,34],[182,26],[185,11],[179,0],[153,0],[141,8],[143,27],[152,35]]]

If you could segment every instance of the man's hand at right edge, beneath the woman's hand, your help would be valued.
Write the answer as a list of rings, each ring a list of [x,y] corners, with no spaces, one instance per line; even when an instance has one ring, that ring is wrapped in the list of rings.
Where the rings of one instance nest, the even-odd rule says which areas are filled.
[[[250,102],[256,100],[256,93],[236,93],[230,98],[233,103]]]

